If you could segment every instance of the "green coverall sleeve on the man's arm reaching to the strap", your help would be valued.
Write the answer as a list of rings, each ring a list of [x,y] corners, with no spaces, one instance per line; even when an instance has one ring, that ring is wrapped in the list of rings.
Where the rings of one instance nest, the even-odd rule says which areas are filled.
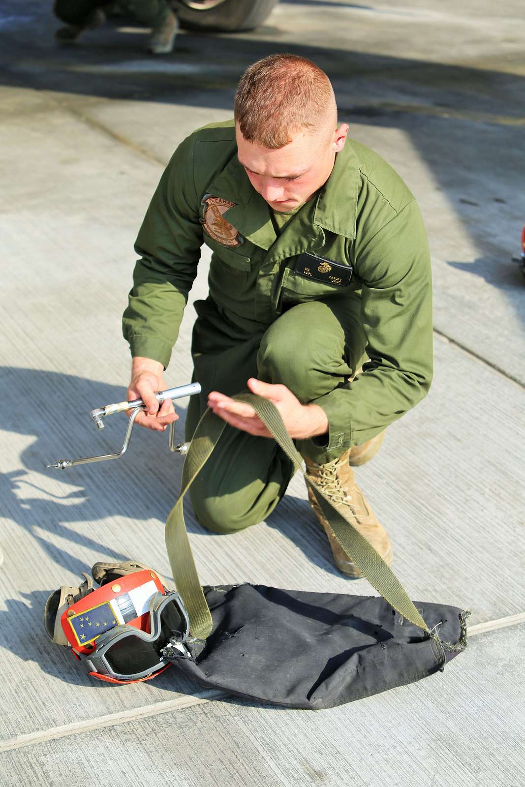
[[[431,260],[416,201],[356,248],[370,359],[353,382],[316,400],[344,448],[379,434],[426,396],[432,379]],[[341,442],[342,436],[342,442]]]

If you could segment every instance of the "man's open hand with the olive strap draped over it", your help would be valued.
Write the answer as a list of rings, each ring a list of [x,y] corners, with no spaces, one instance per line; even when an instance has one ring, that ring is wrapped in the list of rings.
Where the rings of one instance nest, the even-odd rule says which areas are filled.
[[[328,419],[319,405],[301,405],[287,386],[272,386],[253,377],[248,380],[248,387],[252,393],[257,393],[258,396],[268,399],[275,405],[290,438],[304,440],[319,434],[327,434]],[[256,437],[272,437],[253,407],[244,401],[235,401],[231,397],[224,396],[224,393],[212,391],[209,393],[208,406],[216,416],[220,416],[236,429]]]

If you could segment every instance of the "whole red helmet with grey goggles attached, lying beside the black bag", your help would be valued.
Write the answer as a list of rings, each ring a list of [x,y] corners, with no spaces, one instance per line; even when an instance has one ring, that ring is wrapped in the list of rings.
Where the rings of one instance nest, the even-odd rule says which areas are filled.
[[[100,587],[84,575],[78,588],[51,593],[45,612],[51,639],[70,648],[89,674],[113,683],[145,681],[174,658],[191,658],[183,600],[156,571],[128,561],[95,563],[91,573]]]

